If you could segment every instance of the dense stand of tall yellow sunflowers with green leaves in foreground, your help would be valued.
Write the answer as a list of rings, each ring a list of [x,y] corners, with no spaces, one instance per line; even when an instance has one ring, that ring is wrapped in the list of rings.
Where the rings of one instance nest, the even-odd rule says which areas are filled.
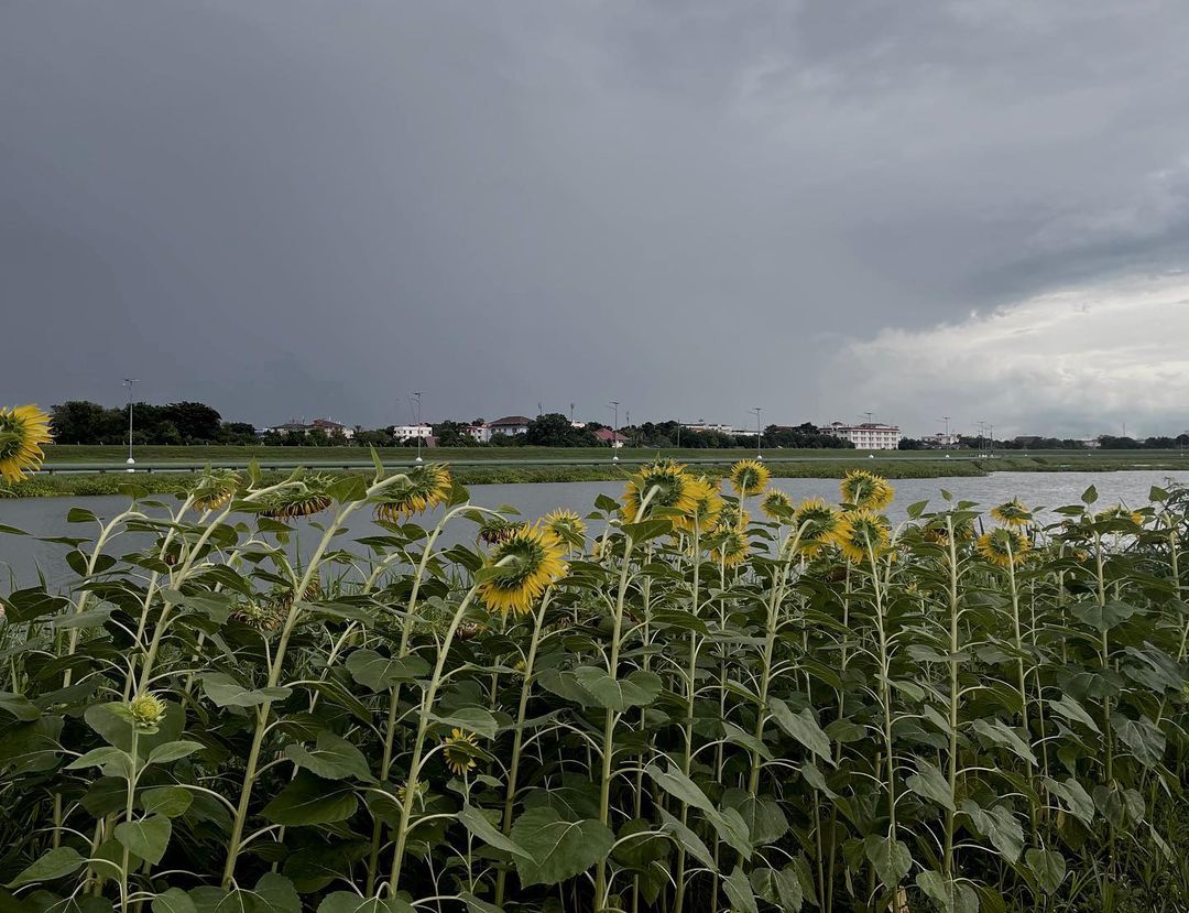
[[[128,495],[0,591],[0,913],[1189,909],[1185,491]]]

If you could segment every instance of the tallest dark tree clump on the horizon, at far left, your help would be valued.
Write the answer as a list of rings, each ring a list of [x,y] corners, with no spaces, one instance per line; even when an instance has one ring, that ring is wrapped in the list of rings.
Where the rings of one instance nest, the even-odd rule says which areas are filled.
[[[128,407],[105,407],[71,399],[50,410],[58,443],[127,443]],[[256,429],[246,422],[225,422],[205,403],[132,404],[132,442],[150,443],[256,443]]]

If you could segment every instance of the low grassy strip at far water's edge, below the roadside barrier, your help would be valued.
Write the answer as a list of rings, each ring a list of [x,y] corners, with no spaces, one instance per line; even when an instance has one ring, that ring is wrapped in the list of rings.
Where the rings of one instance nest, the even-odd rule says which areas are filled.
[[[445,460],[445,462],[449,462]],[[995,472],[1177,472],[1189,470],[1185,459],[1126,459],[1126,458],[1059,458],[995,456],[963,460],[870,460],[845,461],[812,460],[801,462],[766,461],[774,479],[841,479],[848,470],[864,468],[888,479],[943,479],[986,477]],[[457,466],[451,472],[463,485],[517,485],[567,481],[617,481],[631,474],[633,466]],[[706,466],[705,474],[722,478],[726,464]],[[315,471],[316,467],[315,467]],[[322,470],[325,472],[325,470]],[[370,471],[331,471],[335,477],[371,474]],[[196,473],[193,472],[106,472],[95,474],[39,474],[13,485],[0,486],[0,500],[43,497],[93,497],[119,495],[128,484],[150,495],[171,495],[184,491]],[[268,480],[281,480],[285,472],[265,472]]]

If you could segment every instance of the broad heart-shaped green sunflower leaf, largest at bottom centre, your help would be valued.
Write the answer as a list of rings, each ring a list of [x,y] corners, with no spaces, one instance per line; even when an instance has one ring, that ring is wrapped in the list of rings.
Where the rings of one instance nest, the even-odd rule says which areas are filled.
[[[516,857],[521,883],[558,884],[606,858],[615,835],[597,820],[566,821],[553,808],[523,812],[512,825],[512,842],[528,857]]]

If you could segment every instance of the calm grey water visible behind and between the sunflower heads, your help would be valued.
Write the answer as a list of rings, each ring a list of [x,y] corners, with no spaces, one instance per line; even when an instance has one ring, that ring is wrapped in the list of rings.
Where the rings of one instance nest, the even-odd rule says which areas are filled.
[[[940,504],[940,491],[945,489],[956,498],[964,498],[990,506],[1019,497],[1032,506],[1059,506],[1076,503],[1087,487],[1094,485],[1099,490],[1099,504],[1108,505],[1125,503],[1141,505],[1147,500],[1152,485],[1165,485],[1169,481],[1189,484],[1189,470],[1183,472],[998,472],[984,477],[958,477],[942,479],[894,479],[897,498],[888,515],[893,522],[905,518],[910,504],[930,500]],[[810,497],[823,497],[837,500],[837,479],[775,479],[773,483],[788,492],[794,500]],[[535,518],[556,508],[568,508],[585,516],[593,506],[594,498],[600,495],[618,496],[623,484],[618,481],[575,481],[575,483],[537,483],[521,485],[472,485],[471,500],[474,504],[498,508],[503,504],[515,506],[524,517]],[[158,500],[171,503],[169,496],[157,496]],[[37,584],[38,571],[45,575],[51,588],[69,580],[71,573],[65,563],[67,547],[39,542],[37,536],[93,536],[94,524],[67,523],[67,511],[74,505],[84,506],[96,516],[108,520],[127,506],[124,496],[81,497],[81,498],[29,498],[0,499],[0,524],[17,527],[30,536],[0,534],[0,592],[10,588],[11,583],[18,586]],[[753,511],[755,512],[755,511]],[[323,517],[327,515],[323,515]],[[432,527],[440,512],[421,520],[426,527]],[[310,529],[310,521],[297,523],[297,540],[303,549],[313,548],[319,533]],[[356,514],[350,518],[347,534],[344,539],[377,535],[383,533],[371,522],[367,515]],[[596,530],[597,531],[597,530]],[[452,524],[452,529],[440,540],[443,544],[471,540],[474,525],[465,520]],[[341,542],[342,540],[340,540]],[[113,555],[126,554],[146,544],[146,537],[125,534],[115,540],[108,549]]]

